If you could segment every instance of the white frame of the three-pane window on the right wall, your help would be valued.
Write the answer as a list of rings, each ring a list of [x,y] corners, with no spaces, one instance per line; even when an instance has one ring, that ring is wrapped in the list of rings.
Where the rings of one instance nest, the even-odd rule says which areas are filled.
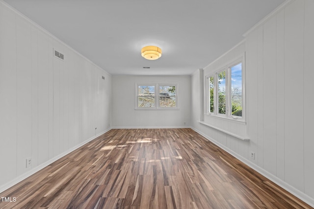
[[[232,115],[232,98],[231,98],[231,68],[241,63],[241,79],[242,79],[242,116],[234,116]],[[218,113],[218,103],[219,103],[219,95],[218,95],[218,73],[226,70],[226,76],[225,76],[225,98],[226,98],[226,114],[220,114]],[[213,112],[210,112],[210,90],[209,90],[209,79],[210,77],[213,77]],[[215,116],[220,118],[226,118],[231,120],[238,120],[245,122],[245,54],[241,55],[237,59],[234,59],[232,62],[227,63],[224,65],[224,67],[219,68],[218,70],[215,70],[208,75],[205,76],[206,79],[206,98],[205,98],[205,107],[206,107],[206,114],[208,116]]]

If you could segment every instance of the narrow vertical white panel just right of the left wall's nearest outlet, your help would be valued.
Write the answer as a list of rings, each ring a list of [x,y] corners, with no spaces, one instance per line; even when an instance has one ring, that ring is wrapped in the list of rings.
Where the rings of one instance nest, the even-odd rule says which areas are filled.
[[[38,165],[38,45],[37,29],[31,27],[31,151],[32,166]]]

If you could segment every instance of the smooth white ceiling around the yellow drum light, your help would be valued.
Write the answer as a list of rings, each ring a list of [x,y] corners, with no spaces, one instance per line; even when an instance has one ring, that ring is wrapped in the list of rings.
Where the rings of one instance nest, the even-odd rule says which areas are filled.
[[[188,75],[285,0],[4,1],[112,75]],[[147,45],[161,58],[141,57]]]

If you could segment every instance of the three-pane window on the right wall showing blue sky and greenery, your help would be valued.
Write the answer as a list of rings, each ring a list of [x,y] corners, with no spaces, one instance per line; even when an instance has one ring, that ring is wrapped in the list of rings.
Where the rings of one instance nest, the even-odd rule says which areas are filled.
[[[206,77],[207,114],[244,120],[243,59]]]

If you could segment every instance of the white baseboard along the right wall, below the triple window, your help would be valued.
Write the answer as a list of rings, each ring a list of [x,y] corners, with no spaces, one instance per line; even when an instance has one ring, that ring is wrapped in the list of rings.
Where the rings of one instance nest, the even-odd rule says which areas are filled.
[[[242,156],[238,155],[237,153],[235,153],[234,151],[232,151],[231,149],[229,149],[225,145],[219,143],[215,139],[212,139],[211,137],[209,137],[208,135],[206,135],[206,134],[202,133],[201,131],[195,129],[194,127],[191,127],[191,129],[193,129],[195,132],[197,132],[198,134],[202,135],[203,137],[205,137],[206,139],[208,139],[212,143],[216,144],[221,149],[225,150],[226,152],[228,152],[229,154],[234,156],[236,159],[238,159],[242,163],[245,163],[246,165],[250,166],[252,169],[254,169],[258,173],[262,174],[264,177],[266,177],[270,181],[274,182],[278,186],[281,186],[282,188],[284,188],[285,190],[287,190],[288,192],[290,192],[291,194],[293,194],[297,198],[301,199],[305,203],[307,203],[310,206],[314,207],[314,199],[312,197],[310,197],[309,195],[307,195],[304,192],[302,192],[302,191],[296,189],[295,187],[289,185],[287,182],[283,181],[282,179],[279,179],[277,176],[269,173],[268,171],[264,170],[262,167],[260,167],[260,166],[258,166],[256,164],[250,162],[249,160],[243,158]]]

